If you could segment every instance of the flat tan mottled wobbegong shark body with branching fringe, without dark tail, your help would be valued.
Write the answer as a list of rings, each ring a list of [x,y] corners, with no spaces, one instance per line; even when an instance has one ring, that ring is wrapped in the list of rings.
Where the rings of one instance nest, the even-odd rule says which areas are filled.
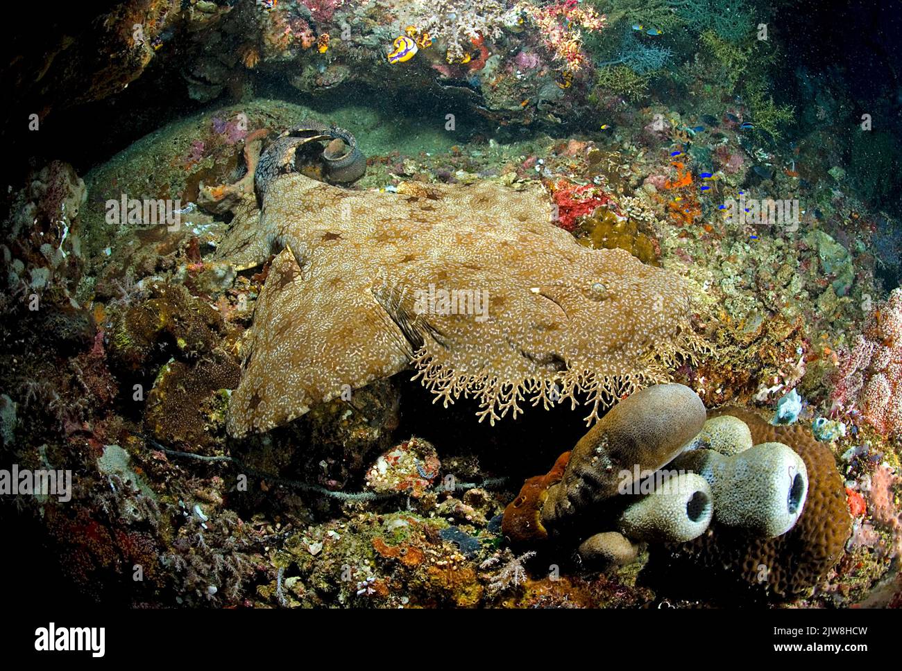
[[[492,423],[528,396],[551,407],[578,394],[591,422],[705,347],[680,277],[585,249],[538,188],[406,183],[395,195],[288,173],[264,190],[259,215],[237,213],[221,246],[244,267],[283,249],[229,404],[234,436],[411,363],[437,399],[473,395]]]

